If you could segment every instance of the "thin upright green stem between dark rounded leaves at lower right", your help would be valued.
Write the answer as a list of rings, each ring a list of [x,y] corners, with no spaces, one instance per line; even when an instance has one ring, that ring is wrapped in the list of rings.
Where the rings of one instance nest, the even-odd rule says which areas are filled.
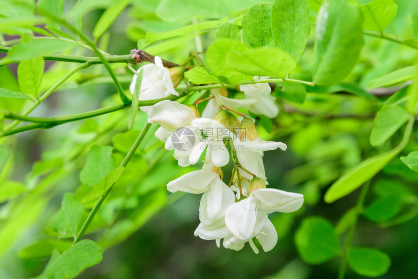
[[[338,279],[344,279],[344,276],[346,274],[348,254],[350,252],[351,242],[353,240],[354,231],[356,229],[359,214],[363,211],[364,201],[366,199],[366,195],[367,195],[367,191],[369,187],[370,187],[370,180],[366,182],[366,184],[363,186],[362,192],[360,193],[359,199],[357,201],[354,223],[351,226],[350,230],[348,231],[347,240],[346,240],[346,243],[344,244],[343,258],[341,259],[340,268],[338,270]]]

